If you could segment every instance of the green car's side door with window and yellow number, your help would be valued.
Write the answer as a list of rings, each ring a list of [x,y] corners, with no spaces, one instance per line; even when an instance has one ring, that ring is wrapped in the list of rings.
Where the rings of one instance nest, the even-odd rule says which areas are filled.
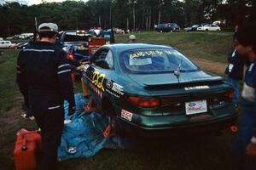
[[[100,48],[90,60],[91,65],[87,71],[87,81],[90,86],[90,93],[96,101],[106,94],[106,82],[113,74],[113,53],[109,48]]]

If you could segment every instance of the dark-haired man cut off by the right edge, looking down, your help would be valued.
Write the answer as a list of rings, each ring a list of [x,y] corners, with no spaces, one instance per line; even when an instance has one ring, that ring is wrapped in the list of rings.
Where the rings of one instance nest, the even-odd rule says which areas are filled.
[[[233,169],[256,169],[256,27],[244,26],[234,34],[236,51],[250,61],[241,93],[243,117],[233,145]]]

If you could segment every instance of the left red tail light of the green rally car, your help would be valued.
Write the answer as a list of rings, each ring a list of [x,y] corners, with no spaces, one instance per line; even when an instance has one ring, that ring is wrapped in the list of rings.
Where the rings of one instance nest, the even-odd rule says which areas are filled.
[[[128,97],[128,99],[129,101],[131,101],[131,103],[140,107],[145,107],[145,108],[157,107],[160,105],[159,99],[155,99],[155,98],[143,98],[143,97],[131,96],[131,97]]]

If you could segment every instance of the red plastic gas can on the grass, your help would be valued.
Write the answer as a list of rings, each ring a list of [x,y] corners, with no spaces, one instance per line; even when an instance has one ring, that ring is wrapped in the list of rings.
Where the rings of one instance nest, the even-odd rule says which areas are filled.
[[[42,150],[41,135],[37,131],[21,129],[15,143],[16,170],[32,170],[38,165],[38,155]]]

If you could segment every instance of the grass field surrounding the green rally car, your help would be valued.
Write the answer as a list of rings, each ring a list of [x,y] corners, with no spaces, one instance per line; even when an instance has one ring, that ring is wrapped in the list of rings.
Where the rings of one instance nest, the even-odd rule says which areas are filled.
[[[229,32],[137,33],[138,42],[171,44],[191,59],[205,59],[214,65],[225,63],[224,55],[232,49]],[[116,37],[126,42],[127,35]],[[3,50],[0,55],[0,169],[14,169],[15,133],[21,128],[36,127],[34,122],[21,118],[22,96],[15,83],[17,50]],[[218,65],[212,72],[218,73]],[[79,85],[75,85],[79,91]],[[234,134],[225,130],[222,135],[209,134],[194,138],[154,140],[129,150],[101,150],[90,159],[61,161],[60,169],[178,169],[229,170],[231,144]]]

